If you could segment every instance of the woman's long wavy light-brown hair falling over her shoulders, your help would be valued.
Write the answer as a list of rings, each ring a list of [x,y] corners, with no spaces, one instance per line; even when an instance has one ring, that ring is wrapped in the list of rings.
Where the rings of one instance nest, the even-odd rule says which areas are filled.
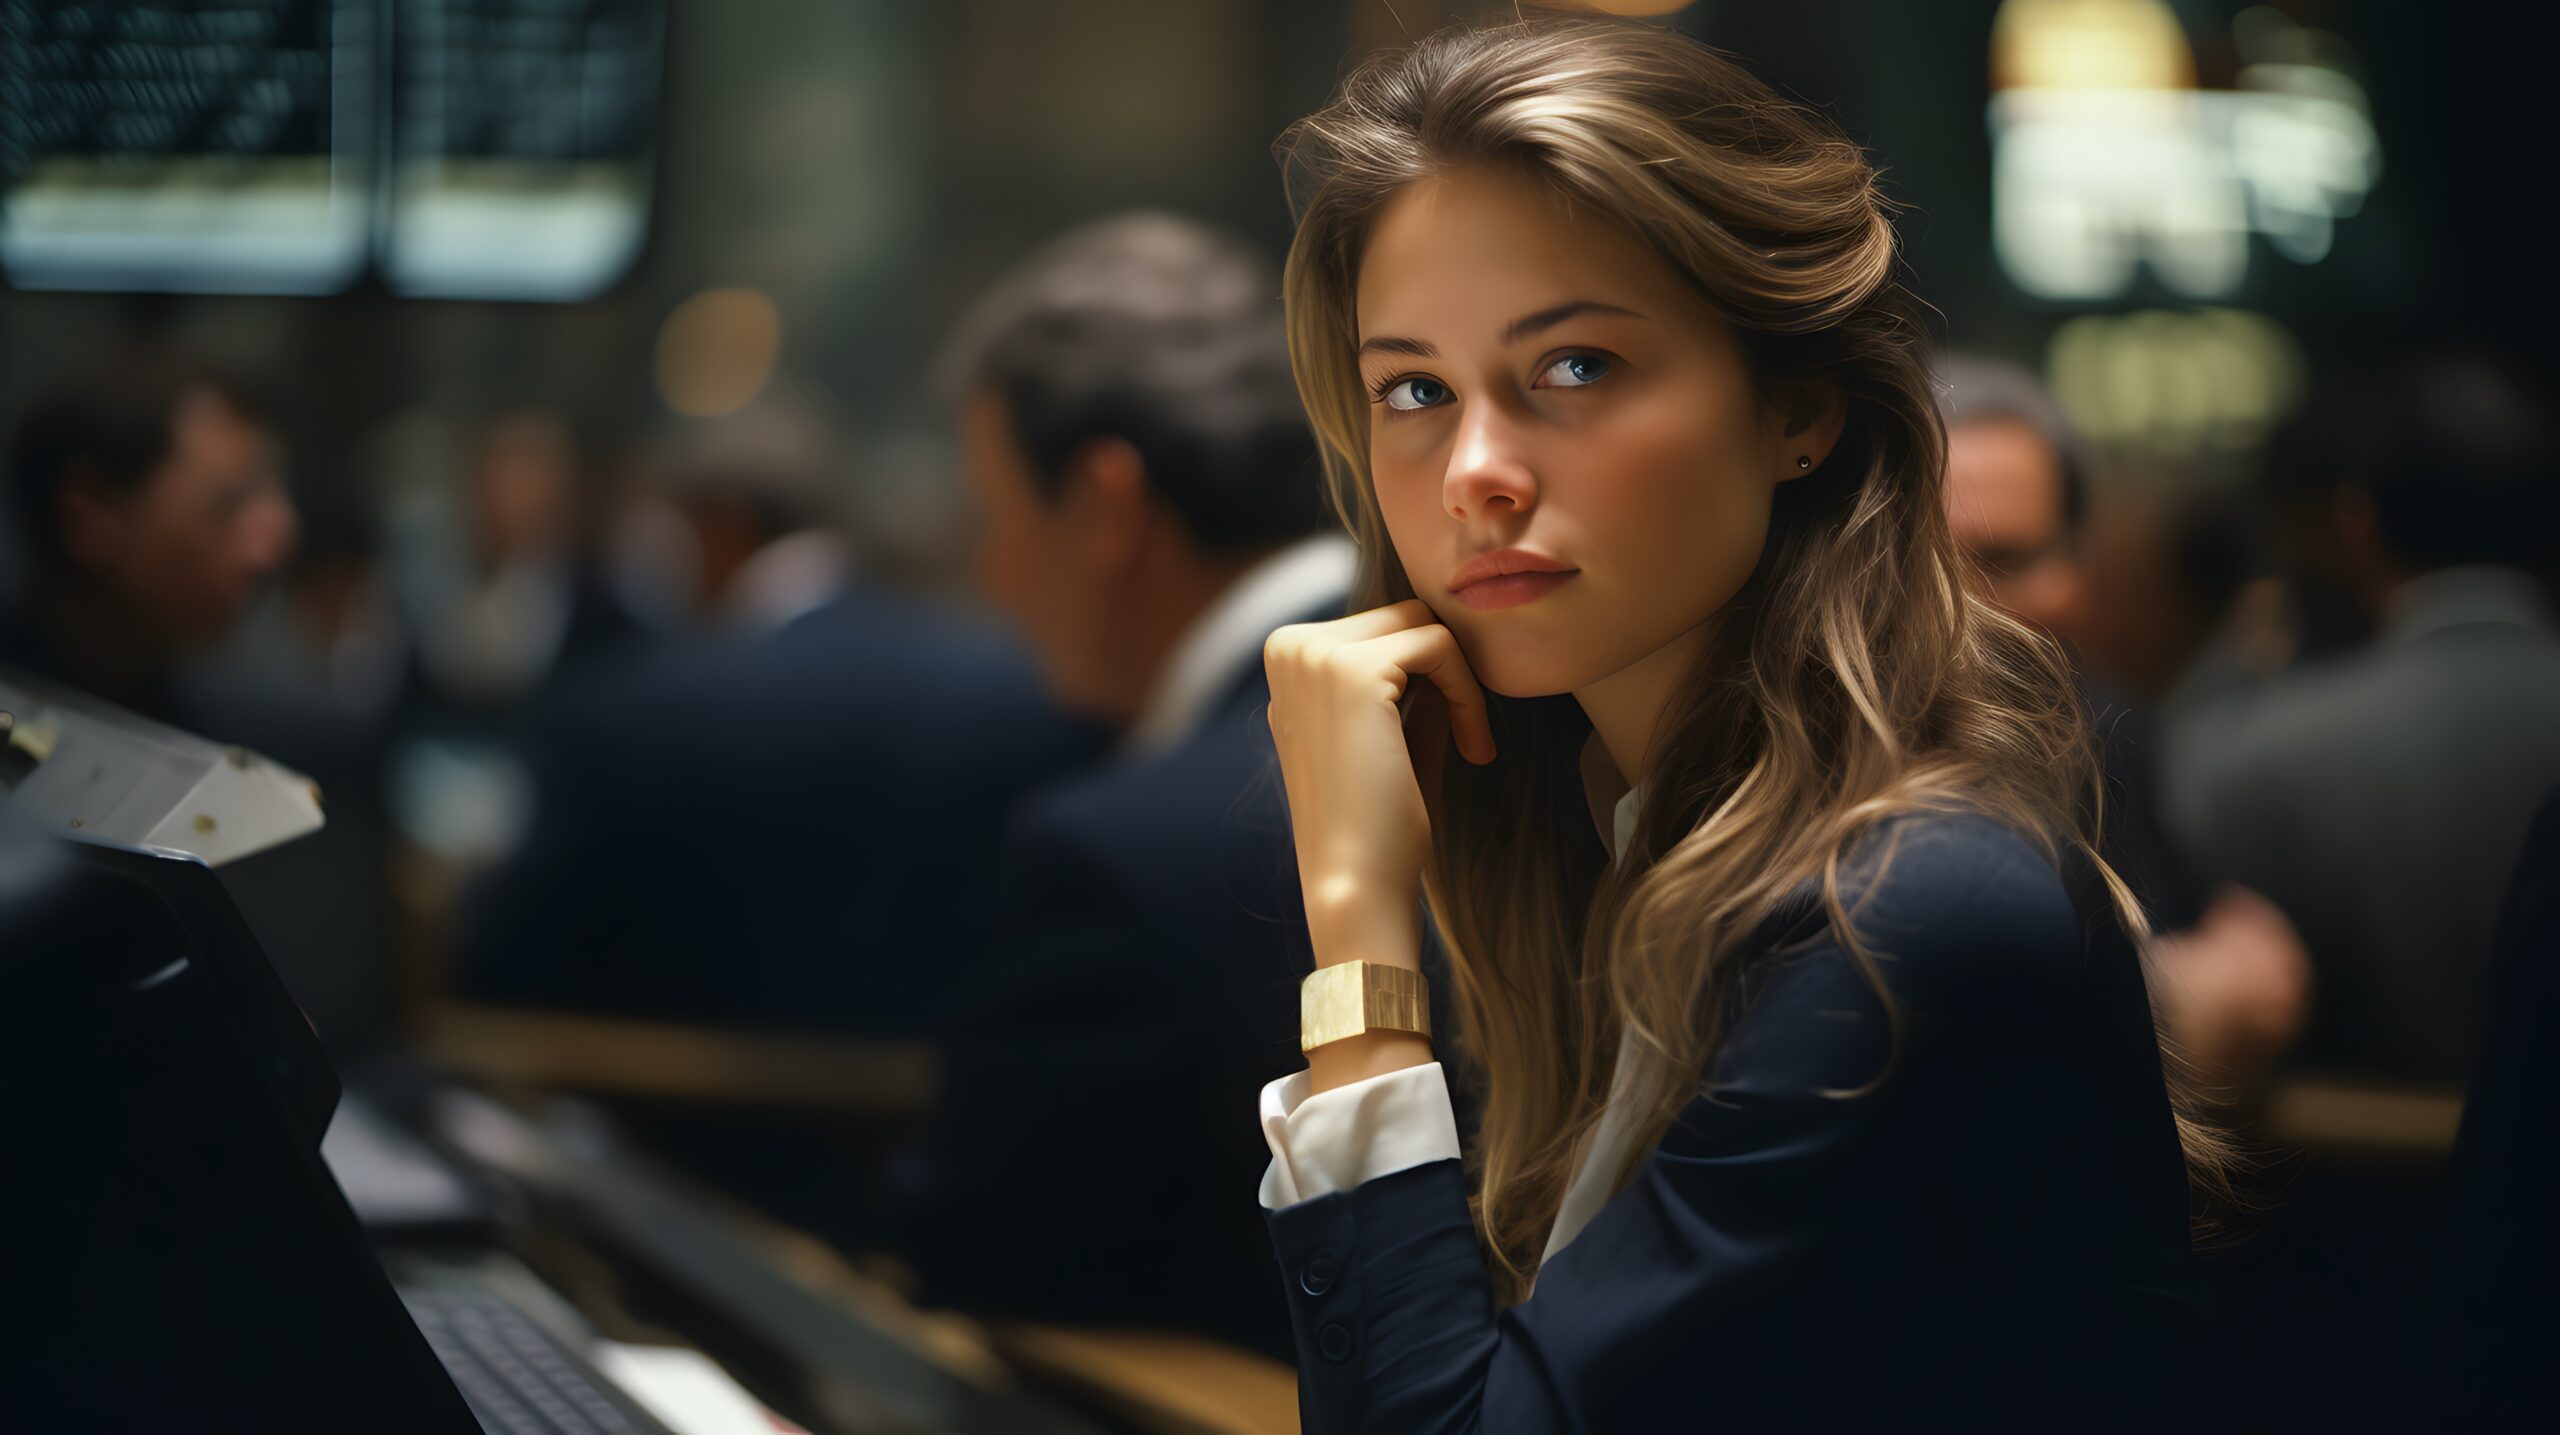
[[[1572,696],[1487,696],[1500,760],[1441,775],[1423,885],[1482,1092],[1475,1218],[1505,1299],[1533,1282],[1620,1049],[1638,1102],[1623,1184],[1692,1100],[1733,1013],[1731,957],[1789,890],[1820,882],[1884,995],[1841,898],[1882,819],[1964,808],[2056,862],[2079,849],[2148,939],[2094,849],[2099,765],[2063,652],[1969,593],[1925,310],[1856,143],[1677,33],[1531,20],[1359,67],[1277,156],[1298,212],[1290,358],[1362,547],[1359,606],[1413,596],[1370,486],[1354,292],[1372,223],[1416,179],[1490,166],[1628,228],[1725,315],[1764,402],[1830,386],[1848,414],[1830,458],[1777,486],[1759,565],[1656,734],[1626,862],[1592,834]],[[2184,1085],[2173,1105],[2209,1179],[2214,1128]]]

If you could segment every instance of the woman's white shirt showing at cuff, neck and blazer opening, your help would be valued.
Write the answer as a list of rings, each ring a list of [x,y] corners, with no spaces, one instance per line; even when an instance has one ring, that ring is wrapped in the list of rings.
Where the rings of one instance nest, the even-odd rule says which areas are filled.
[[[1628,788],[1610,765],[1600,739],[1582,749],[1582,790],[1592,803],[1592,819],[1610,813],[1603,826],[1610,854],[1626,854],[1636,831],[1636,811],[1644,803],[1641,788]],[[1546,1253],[1554,1259],[1590,1225],[1608,1197],[1618,1195],[1618,1166],[1626,1164],[1631,1110],[1628,1049],[1618,1051],[1618,1069],[1610,1079],[1608,1105],[1582,1149],[1582,1164],[1564,1187],[1556,1207],[1556,1225],[1546,1233]],[[1262,1205],[1280,1210],[1321,1195],[1347,1192],[1359,1182],[1390,1177],[1428,1161],[1454,1161],[1457,1113],[1449,1108],[1449,1077],[1439,1062],[1405,1067],[1347,1087],[1308,1095],[1308,1074],[1295,1072],[1262,1087],[1262,1138],[1272,1149],[1272,1164],[1262,1172]]]

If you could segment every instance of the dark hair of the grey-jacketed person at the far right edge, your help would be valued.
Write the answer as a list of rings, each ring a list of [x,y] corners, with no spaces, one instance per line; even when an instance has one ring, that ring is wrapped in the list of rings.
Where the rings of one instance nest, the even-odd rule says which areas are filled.
[[[2360,486],[2394,558],[2417,570],[2552,558],[2552,427],[2514,368],[2481,356],[2419,361],[2386,391],[2378,430]]]

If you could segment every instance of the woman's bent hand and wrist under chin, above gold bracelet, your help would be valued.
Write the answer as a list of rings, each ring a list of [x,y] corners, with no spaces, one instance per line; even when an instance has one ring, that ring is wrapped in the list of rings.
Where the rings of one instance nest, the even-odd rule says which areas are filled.
[[[1418,964],[1413,893],[1431,854],[1423,778],[1436,788],[1449,739],[1469,762],[1492,762],[1485,691],[1421,599],[1283,627],[1262,665],[1316,964]]]

